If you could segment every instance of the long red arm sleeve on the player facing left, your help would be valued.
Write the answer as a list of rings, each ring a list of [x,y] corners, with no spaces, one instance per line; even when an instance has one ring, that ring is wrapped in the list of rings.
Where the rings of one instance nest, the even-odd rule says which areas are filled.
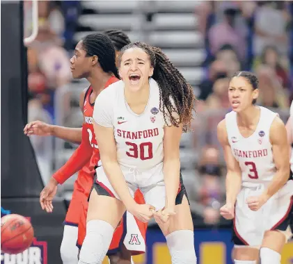
[[[88,141],[88,131],[86,131],[86,126],[82,126],[81,145],[74,151],[67,163],[53,174],[54,179],[59,184],[63,184],[90,161],[92,154],[93,148]]]

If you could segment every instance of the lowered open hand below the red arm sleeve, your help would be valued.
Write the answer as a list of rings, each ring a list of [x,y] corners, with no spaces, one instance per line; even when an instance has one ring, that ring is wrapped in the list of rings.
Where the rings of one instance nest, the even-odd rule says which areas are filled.
[[[42,192],[40,192],[40,206],[42,210],[45,210],[47,213],[53,212],[52,200],[56,195],[57,185],[58,182],[51,177],[49,183],[42,189]]]

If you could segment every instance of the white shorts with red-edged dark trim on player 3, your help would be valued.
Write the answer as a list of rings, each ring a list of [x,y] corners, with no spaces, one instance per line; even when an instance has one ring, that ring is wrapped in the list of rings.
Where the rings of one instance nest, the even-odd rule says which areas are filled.
[[[258,211],[251,211],[246,199],[258,196],[264,190],[263,184],[242,187],[235,205],[234,232],[232,240],[235,245],[259,247],[265,231],[279,230],[287,239],[291,236],[290,220],[293,210],[293,181],[288,181],[276,195],[271,197]]]

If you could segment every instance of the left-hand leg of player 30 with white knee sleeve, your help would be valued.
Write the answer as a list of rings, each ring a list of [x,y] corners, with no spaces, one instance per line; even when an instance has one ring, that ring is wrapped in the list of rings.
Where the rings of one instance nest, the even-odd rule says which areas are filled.
[[[95,182],[94,187],[90,193],[86,238],[79,254],[79,264],[102,263],[111,244],[114,230],[125,213],[125,206],[122,201],[115,198],[116,193],[109,181],[103,182],[102,185]]]

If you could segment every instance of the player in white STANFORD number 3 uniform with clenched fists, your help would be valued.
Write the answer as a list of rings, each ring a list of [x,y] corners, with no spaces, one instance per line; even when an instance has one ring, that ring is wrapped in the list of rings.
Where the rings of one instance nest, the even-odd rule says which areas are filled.
[[[237,72],[229,84],[232,111],[218,125],[227,165],[225,219],[233,219],[235,264],[279,264],[289,238],[292,181],[285,125],[255,106],[258,79]],[[260,250],[259,250],[260,249]]]

